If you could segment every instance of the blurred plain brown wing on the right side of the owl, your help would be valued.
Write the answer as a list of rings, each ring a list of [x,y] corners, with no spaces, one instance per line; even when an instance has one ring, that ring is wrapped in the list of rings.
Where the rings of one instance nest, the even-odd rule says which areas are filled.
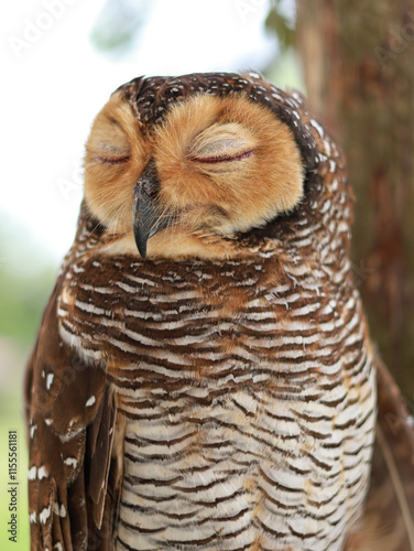
[[[347,550],[414,551],[414,419],[377,358],[378,423],[362,526]]]

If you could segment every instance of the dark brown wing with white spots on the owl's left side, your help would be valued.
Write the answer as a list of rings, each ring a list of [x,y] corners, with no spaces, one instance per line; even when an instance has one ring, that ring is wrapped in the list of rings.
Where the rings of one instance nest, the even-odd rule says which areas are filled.
[[[86,364],[62,341],[59,289],[44,313],[25,379],[31,549],[105,550],[120,476],[111,463],[115,396],[103,366]]]

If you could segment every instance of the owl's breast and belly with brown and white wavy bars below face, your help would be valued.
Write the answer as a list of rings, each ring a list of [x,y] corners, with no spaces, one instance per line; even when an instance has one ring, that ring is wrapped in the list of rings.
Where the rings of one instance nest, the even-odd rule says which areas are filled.
[[[124,425],[117,550],[344,548],[375,399],[348,272],[274,251],[70,264],[61,335],[105,367]]]

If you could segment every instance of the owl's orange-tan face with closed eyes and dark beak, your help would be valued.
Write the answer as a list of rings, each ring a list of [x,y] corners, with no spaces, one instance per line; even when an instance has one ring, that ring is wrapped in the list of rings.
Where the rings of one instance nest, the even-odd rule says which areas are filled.
[[[112,236],[111,250],[228,257],[241,233],[301,203],[299,148],[271,109],[243,89],[188,87],[164,105],[162,96],[148,100],[162,112],[150,117],[139,108],[139,83],[133,101],[131,86],[111,96],[86,145],[85,199]]]

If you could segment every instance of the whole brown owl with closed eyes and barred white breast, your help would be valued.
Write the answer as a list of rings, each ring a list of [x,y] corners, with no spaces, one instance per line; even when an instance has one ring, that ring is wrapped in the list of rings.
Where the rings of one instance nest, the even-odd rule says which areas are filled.
[[[111,95],[26,371],[33,551],[412,549],[388,475],[413,480],[411,418],[384,368],[377,400],[351,218],[299,94],[211,73]]]

